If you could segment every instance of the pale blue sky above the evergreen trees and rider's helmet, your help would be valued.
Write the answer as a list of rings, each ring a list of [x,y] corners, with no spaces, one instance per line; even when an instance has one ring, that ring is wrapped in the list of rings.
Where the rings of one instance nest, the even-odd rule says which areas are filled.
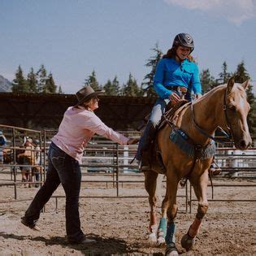
[[[212,76],[244,61],[256,93],[256,0],[0,0],[0,75],[44,64],[65,93],[93,70],[101,85],[129,73],[141,84],[152,48],[167,52],[177,33],[193,37]]]

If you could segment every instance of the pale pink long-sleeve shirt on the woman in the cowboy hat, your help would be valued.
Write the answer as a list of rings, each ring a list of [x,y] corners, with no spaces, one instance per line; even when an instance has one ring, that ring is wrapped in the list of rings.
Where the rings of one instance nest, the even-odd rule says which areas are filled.
[[[124,137],[119,132],[115,132],[113,129],[107,127],[92,111],[73,106],[67,108],[63,120],[59,125],[59,132],[51,141],[81,163],[85,146],[93,137],[94,133],[121,145],[126,145],[128,141],[128,137]]]

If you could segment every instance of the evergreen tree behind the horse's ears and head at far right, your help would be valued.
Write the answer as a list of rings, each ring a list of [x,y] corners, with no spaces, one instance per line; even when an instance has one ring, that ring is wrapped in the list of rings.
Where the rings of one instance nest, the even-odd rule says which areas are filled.
[[[236,83],[243,83],[245,80],[249,79],[249,74],[245,69],[245,63],[244,61],[241,61],[241,63],[239,63],[236,67],[236,72],[234,74],[234,78]],[[254,97],[254,93],[253,93],[253,86],[249,85],[248,89],[246,91],[247,93],[247,100],[249,102],[250,105],[250,111],[248,114],[248,126],[249,126],[249,132],[251,132],[251,134],[256,133],[256,102],[255,102],[255,97]]]

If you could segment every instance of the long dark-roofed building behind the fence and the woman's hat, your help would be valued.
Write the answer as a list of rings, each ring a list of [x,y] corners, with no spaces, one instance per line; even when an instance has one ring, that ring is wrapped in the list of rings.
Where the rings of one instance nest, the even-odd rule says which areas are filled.
[[[148,115],[156,98],[101,96],[96,115],[119,131],[135,130]],[[0,124],[33,129],[56,129],[73,94],[0,93]]]

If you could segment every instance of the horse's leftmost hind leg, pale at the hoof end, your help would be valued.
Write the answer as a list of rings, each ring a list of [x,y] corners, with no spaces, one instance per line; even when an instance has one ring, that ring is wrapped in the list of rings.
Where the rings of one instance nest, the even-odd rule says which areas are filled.
[[[156,202],[157,202],[157,178],[158,173],[154,171],[144,171],[145,175],[145,190],[149,194],[150,202],[150,243],[156,242],[156,232],[157,232],[157,218],[156,218]]]

